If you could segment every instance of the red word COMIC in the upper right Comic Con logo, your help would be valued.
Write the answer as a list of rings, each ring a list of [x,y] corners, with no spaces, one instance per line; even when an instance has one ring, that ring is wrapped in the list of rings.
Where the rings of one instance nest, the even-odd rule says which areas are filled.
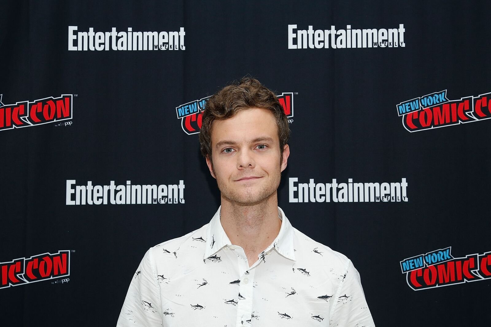
[[[403,125],[412,132],[472,122],[475,121],[472,111],[472,97],[463,98],[410,112],[403,116]]]

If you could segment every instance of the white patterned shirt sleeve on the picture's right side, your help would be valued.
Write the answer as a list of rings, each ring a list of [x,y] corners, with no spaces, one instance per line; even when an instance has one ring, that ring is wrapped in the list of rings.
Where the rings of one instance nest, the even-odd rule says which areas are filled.
[[[329,326],[375,327],[372,314],[361,287],[360,275],[351,260],[348,260],[343,280],[333,297]]]

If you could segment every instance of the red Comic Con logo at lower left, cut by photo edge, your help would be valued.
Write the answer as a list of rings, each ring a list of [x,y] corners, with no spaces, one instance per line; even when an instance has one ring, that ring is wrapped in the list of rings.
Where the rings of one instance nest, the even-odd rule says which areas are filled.
[[[70,276],[70,251],[0,262],[0,288],[67,276]]]

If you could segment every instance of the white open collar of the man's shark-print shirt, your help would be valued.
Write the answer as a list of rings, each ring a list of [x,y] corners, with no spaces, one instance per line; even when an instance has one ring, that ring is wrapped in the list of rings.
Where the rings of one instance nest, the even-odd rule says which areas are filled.
[[[217,212],[210,222],[203,259],[216,254],[225,246],[232,245],[227,234],[225,234],[223,227],[221,226],[220,209],[221,205],[218,207]],[[295,261],[295,250],[293,249],[293,226],[290,224],[290,221],[288,220],[288,218],[286,218],[285,213],[280,207],[278,207],[278,213],[279,218],[281,219],[281,227],[279,229],[279,233],[274,239],[273,243],[268,248],[266,248],[264,252],[268,252],[274,248],[282,256]]]

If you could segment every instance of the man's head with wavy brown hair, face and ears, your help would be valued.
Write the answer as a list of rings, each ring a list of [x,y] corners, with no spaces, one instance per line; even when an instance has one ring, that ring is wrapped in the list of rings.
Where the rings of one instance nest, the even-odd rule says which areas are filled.
[[[257,79],[244,77],[208,99],[199,140],[222,197],[255,203],[275,194],[289,134],[283,107]]]

